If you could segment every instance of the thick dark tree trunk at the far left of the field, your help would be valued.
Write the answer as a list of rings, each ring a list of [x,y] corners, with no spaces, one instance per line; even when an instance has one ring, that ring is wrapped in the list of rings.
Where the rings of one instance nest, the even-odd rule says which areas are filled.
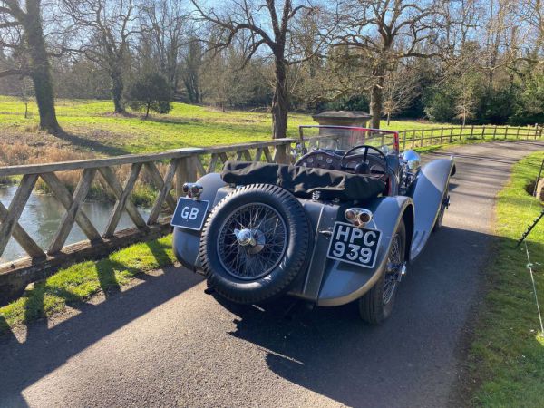
[[[34,83],[34,92],[40,112],[40,129],[58,133],[61,126],[54,110],[53,78],[49,58],[45,50],[44,30],[40,15],[40,1],[26,1],[24,34],[29,50],[30,76]]]

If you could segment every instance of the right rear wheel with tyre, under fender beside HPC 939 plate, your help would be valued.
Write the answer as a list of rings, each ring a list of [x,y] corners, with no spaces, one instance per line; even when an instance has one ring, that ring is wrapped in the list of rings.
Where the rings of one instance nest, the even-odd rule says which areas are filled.
[[[359,314],[371,325],[379,325],[393,312],[396,292],[405,267],[406,227],[401,219],[387,254],[387,265],[382,276],[363,297],[359,299]]]

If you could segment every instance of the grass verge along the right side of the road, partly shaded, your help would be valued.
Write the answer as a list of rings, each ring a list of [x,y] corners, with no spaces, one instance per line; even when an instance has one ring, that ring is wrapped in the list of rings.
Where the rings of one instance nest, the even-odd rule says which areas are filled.
[[[473,403],[486,407],[541,407],[544,402],[544,337],[533,295],[525,247],[516,240],[542,206],[526,187],[538,175],[544,151],[514,167],[496,207],[496,256],[487,269],[489,290],[471,345]],[[540,307],[544,306],[544,222],[527,238]],[[544,311],[544,310],[543,310]]]

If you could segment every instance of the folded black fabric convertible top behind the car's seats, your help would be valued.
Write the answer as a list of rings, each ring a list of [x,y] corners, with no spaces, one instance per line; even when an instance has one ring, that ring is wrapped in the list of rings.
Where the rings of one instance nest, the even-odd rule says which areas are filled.
[[[325,200],[373,199],[385,189],[384,181],[360,174],[248,161],[227,161],[221,178],[242,186],[276,184],[301,198],[311,198],[314,191],[319,191],[320,199]]]

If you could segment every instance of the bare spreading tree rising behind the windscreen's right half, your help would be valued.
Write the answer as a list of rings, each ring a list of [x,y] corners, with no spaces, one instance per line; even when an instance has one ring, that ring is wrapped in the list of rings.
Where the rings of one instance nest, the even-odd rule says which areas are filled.
[[[434,39],[432,23],[437,16],[433,1],[347,0],[338,11],[335,44],[347,45],[369,71],[372,127],[380,127],[384,81],[398,61],[408,57],[429,57]]]

